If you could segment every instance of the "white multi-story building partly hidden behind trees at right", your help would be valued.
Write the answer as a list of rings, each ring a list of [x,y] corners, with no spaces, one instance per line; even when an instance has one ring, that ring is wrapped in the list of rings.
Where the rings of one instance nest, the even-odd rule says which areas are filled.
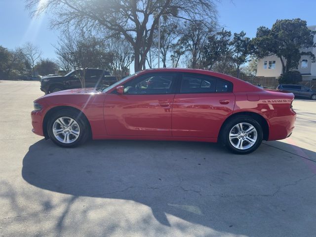
[[[309,26],[310,30],[315,31],[316,26]],[[314,36],[316,42],[316,35]],[[316,55],[316,48],[310,49]],[[312,63],[308,55],[302,55],[298,69],[303,80],[316,80],[316,63]],[[257,65],[257,77],[275,77],[278,78],[282,74],[281,60],[274,54],[261,58]]]

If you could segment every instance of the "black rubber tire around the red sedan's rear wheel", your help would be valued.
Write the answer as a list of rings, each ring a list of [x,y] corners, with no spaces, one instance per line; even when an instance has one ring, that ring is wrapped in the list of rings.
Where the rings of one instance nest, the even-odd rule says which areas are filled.
[[[236,147],[234,147],[232,145],[231,140],[230,140],[230,132],[231,132],[231,130],[239,123],[245,123],[244,124],[245,130],[247,130],[246,129],[247,127],[249,128],[249,126],[247,124],[250,124],[250,125],[254,126],[254,128],[256,129],[256,131],[255,131],[256,132],[256,141],[254,142],[253,145],[251,145],[248,142],[247,137],[244,137],[244,136],[247,136],[247,135],[243,135],[241,133],[241,135],[238,136],[237,134],[239,134],[239,133],[236,134],[236,136],[238,136],[238,137],[234,138],[235,140],[232,141],[233,143],[235,143],[235,145],[238,144],[238,140],[242,139],[242,140],[240,140],[241,144],[246,144],[246,146],[251,146],[251,147],[249,147],[247,149],[244,149],[244,150],[237,149]],[[235,128],[235,130],[236,130],[236,128]],[[235,130],[233,130],[232,132],[236,133]],[[255,132],[252,132],[252,133],[248,134],[249,138],[254,138],[255,137],[255,135],[254,135]],[[249,153],[252,153],[255,150],[257,150],[257,148],[260,146],[260,144],[262,142],[262,139],[263,139],[263,131],[262,131],[262,127],[261,127],[260,123],[257,120],[255,120],[255,119],[253,119],[253,118],[251,118],[249,116],[237,116],[235,118],[232,118],[232,119],[228,120],[224,124],[224,128],[222,129],[221,133],[222,134],[220,134],[220,136],[221,136],[220,140],[221,140],[222,144],[229,151],[231,151],[231,152],[233,152],[235,154],[240,154],[240,155],[242,155],[242,154],[249,154]]]

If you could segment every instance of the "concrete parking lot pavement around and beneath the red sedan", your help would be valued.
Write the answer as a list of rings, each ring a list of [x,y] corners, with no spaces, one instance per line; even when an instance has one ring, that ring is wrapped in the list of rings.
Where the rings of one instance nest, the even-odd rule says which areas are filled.
[[[292,136],[238,156],[217,144],[90,141],[31,132],[35,81],[0,81],[0,236],[300,236],[316,233],[316,102]]]

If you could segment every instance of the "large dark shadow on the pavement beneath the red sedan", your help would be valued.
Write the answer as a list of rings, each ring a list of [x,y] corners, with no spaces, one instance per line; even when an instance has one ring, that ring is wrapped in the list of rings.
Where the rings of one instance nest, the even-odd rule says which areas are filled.
[[[304,216],[315,210],[302,207],[315,201],[316,187],[308,182],[315,163],[295,155],[291,145],[282,149],[292,153],[274,148],[277,143],[240,156],[201,142],[91,141],[65,149],[40,140],[24,157],[22,176],[40,189],[74,197],[142,203],[165,226],[171,214],[221,232],[286,236],[271,229],[277,225],[299,236],[297,226],[303,228]]]

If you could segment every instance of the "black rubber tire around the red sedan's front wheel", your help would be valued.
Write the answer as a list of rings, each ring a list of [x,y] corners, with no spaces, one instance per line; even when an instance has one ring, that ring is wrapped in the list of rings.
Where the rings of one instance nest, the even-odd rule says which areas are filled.
[[[54,126],[55,121],[58,118],[62,118],[62,117],[72,118],[78,124],[79,136],[75,139],[74,135],[69,135],[69,136],[74,137],[75,140],[73,142],[64,143],[64,142],[58,140],[53,133],[53,126]],[[63,119],[63,121],[66,122],[66,124],[67,124],[67,119]],[[76,127],[77,127],[77,125],[76,125]],[[61,126],[60,126],[60,128],[62,129]],[[67,135],[67,133],[70,134],[70,132],[71,131],[66,132],[66,135]],[[86,120],[86,118],[82,114],[80,114],[76,111],[72,111],[72,110],[60,110],[60,111],[56,112],[55,114],[53,114],[51,116],[51,119],[48,121],[47,133],[48,133],[49,138],[56,145],[58,145],[60,147],[67,147],[67,148],[69,147],[70,148],[70,147],[76,147],[76,146],[84,143],[90,137],[90,126],[88,124],[88,121]],[[63,133],[65,133],[65,131],[60,133],[60,135],[58,135],[58,137],[63,138],[63,135],[64,135]]]

